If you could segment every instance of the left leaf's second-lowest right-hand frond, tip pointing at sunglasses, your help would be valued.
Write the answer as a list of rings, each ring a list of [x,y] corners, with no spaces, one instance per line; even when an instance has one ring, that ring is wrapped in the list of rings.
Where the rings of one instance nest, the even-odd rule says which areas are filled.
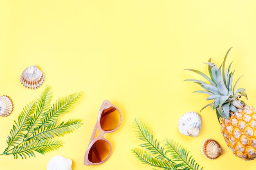
[[[42,128],[38,129],[34,136],[27,140],[32,138],[36,140],[42,140],[53,138],[54,136],[64,136],[67,133],[72,133],[74,130],[83,125],[81,119],[69,119],[67,122],[62,121],[58,126],[56,124],[57,119],[52,121],[52,124],[49,124],[47,127],[43,126]]]

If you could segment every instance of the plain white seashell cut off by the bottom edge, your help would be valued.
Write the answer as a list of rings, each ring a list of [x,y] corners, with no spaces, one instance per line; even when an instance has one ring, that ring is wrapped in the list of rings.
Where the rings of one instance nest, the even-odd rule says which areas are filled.
[[[61,155],[52,157],[47,163],[47,170],[72,170],[72,160]]]

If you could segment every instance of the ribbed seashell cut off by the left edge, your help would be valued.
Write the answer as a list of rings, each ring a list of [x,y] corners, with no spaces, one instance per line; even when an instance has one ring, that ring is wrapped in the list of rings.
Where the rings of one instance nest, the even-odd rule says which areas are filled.
[[[11,98],[4,95],[0,97],[0,116],[6,117],[11,114],[13,110],[13,103]]]

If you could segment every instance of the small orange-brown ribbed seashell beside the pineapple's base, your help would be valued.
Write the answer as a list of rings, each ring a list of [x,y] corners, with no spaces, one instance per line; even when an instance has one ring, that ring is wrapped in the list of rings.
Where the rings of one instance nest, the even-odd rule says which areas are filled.
[[[202,143],[201,152],[204,157],[213,160],[222,154],[222,149],[216,140],[209,138]]]

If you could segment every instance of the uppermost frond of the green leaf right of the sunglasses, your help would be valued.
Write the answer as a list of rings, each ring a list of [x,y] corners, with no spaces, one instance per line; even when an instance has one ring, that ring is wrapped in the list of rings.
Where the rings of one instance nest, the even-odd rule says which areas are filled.
[[[133,121],[133,127],[135,128],[135,135],[137,135],[137,138],[142,141],[146,141],[146,143],[140,144],[141,147],[145,147],[149,153],[155,154],[159,159],[165,158],[170,161],[170,159],[166,157],[166,151],[164,151],[164,148],[159,145],[159,141],[154,139],[153,132],[149,130],[148,126],[135,118]]]

